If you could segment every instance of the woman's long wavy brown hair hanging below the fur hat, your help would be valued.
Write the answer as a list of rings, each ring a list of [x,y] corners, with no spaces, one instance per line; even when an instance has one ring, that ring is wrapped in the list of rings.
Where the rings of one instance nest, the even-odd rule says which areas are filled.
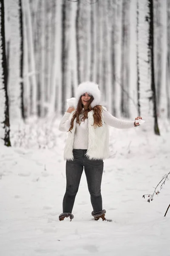
[[[91,96],[91,99],[89,100],[88,104],[83,106],[82,105],[82,96],[80,96],[79,98],[79,102],[77,104],[77,108],[76,111],[74,112],[74,115],[71,119],[71,127],[68,131],[71,132],[71,130],[73,129],[73,125],[74,125],[74,119],[76,118],[76,122],[80,125],[81,121],[85,121],[86,118],[88,118],[88,112],[91,111],[93,109],[94,111],[94,124],[95,127],[102,126],[102,106],[100,105],[96,105],[94,106],[94,108],[91,108],[91,102],[94,100],[94,97]],[[82,109],[84,108],[83,111],[83,117],[79,120],[79,115],[82,112]]]

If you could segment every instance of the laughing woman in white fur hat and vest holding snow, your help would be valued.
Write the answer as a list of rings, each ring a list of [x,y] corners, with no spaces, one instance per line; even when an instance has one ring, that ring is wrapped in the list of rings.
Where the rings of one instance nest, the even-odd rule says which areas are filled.
[[[59,221],[74,215],[72,209],[79,189],[83,168],[91,195],[95,220],[105,220],[102,209],[101,182],[103,159],[109,157],[108,125],[116,128],[132,128],[139,122],[117,119],[100,105],[100,90],[94,82],[83,82],[77,89],[75,109],[70,106],[59,124],[60,131],[68,131],[64,159],[66,160],[66,192],[63,198],[63,213]],[[135,119],[142,119],[138,116]]]

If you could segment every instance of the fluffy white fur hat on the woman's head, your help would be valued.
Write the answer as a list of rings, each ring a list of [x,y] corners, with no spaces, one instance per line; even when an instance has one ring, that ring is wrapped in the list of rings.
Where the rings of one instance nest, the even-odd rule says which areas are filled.
[[[101,93],[99,90],[99,85],[91,82],[91,81],[86,81],[81,84],[79,84],[77,88],[77,93],[76,93],[76,101],[75,101],[75,107],[77,108],[77,104],[79,102],[80,96],[82,96],[83,93],[90,93],[93,97],[94,100],[91,102],[91,107],[94,108],[96,105],[100,105],[100,97]]]

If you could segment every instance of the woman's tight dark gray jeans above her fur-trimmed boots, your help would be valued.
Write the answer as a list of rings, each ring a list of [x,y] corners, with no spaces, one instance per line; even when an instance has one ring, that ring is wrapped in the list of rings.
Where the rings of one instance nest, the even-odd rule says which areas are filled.
[[[74,161],[66,161],[66,192],[63,198],[63,212],[72,212],[79,183],[85,169],[88,191],[94,212],[102,211],[101,182],[103,160],[89,160],[85,156],[87,149],[73,149]]]

